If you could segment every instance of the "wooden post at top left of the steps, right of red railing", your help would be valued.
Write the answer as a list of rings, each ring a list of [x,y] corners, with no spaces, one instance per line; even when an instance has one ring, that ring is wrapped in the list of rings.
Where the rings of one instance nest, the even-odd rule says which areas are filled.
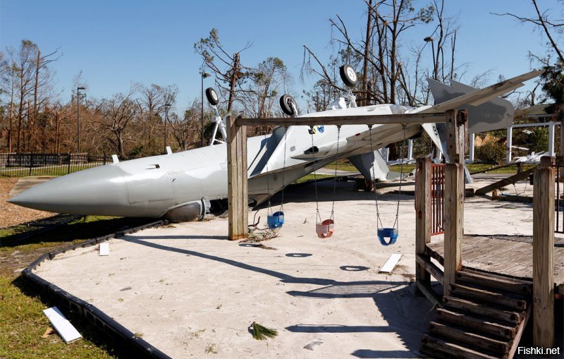
[[[456,272],[462,269],[462,228],[464,225],[464,169],[462,164],[445,168],[445,254],[443,295],[450,294]]]

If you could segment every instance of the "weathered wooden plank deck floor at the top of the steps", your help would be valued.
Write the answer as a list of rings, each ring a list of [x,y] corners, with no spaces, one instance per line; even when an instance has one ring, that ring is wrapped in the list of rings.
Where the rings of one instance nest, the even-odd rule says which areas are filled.
[[[443,264],[443,241],[427,244],[428,255]],[[462,239],[462,265],[480,271],[532,281],[532,236],[475,236]],[[555,238],[554,281],[564,287],[564,240]]]

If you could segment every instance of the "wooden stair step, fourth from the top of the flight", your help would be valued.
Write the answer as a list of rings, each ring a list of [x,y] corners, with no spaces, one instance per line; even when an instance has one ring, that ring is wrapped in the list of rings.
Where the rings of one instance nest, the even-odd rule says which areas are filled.
[[[472,329],[477,333],[488,334],[503,339],[513,339],[517,329],[507,325],[491,322],[489,320],[472,317],[447,309],[437,309],[436,319],[443,324],[452,323]]]

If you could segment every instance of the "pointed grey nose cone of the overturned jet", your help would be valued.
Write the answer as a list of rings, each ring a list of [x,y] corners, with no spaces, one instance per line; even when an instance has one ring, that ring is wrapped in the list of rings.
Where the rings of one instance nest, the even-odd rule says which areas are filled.
[[[47,212],[106,215],[113,215],[107,213],[108,208],[128,203],[123,171],[113,165],[54,178],[23,191],[8,202]]]

